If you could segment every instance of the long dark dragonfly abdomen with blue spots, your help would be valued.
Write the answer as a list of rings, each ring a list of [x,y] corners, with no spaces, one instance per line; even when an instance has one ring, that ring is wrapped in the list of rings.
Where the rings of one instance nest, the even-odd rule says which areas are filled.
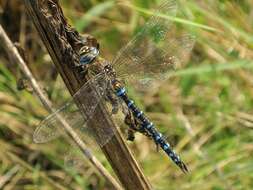
[[[172,159],[172,161],[178,165],[183,172],[187,172],[188,169],[180,157],[175,153],[175,151],[171,148],[170,144],[164,138],[164,136],[159,133],[154,126],[154,124],[149,121],[149,119],[144,115],[143,111],[141,111],[131,100],[127,94],[126,89],[124,87],[118,89],[116,91],[118,97],[122,98],[126,103],[127,107],[132,111],[134,117],[136,117],[142,123],[142,127],[146,129],[149,134],[152,136],[153,140],[156,144],[160,145],[160,147],[164,150],[164,152]]]

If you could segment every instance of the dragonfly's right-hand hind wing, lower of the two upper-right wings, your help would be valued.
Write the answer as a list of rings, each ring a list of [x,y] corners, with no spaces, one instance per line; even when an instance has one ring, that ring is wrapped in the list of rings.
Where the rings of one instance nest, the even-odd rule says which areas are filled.
[[[154,48],[153,53],[143,60],[141,63],[143,73],[139,78],[166,79],[171,70],[180,68],[187,62],[194,42],[195,38],[189,34],[178,37],[168,35],[166,40]]]

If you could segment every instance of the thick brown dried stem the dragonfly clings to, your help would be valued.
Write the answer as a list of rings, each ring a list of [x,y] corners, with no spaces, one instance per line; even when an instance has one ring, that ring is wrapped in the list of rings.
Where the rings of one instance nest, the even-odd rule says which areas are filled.
[[[69,92],[75,94],[89,80],[87,76],[80,75],[80,70],[75,67],[79,64],[78,51],[84,44],[93,45],[96,40],[81,39],[79,33],[69,26],[58,0],[24,0],[23,2]],[[89,100],[85,98],[76,101],[78,106],[87,105],[87,102]],[[82,113],[86,113],[85,108],[79,108]],[[125,141],[116,130],[117,127],[110,114],[103,109],[102,104],[97,106],[88,127],[91,127],[95,135],[98,134],[97,131],[104,129],[115,131],[114,136],[101,149],[125,189],[151,189]],[[96,140],[99,141],[99,138]]]

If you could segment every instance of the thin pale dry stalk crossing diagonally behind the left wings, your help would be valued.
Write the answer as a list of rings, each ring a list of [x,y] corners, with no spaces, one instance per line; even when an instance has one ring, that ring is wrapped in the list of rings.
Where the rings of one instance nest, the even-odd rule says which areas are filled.
[[[52,104],[50,100],[44,95],[42,89],[36,82],[35,78],[33,77],[32,73],[30,72],[29,68],[27,67],[26,63],[24,62],[23,58],[20,56],[17,48],[8,38],[7,34],[5,33],[4,29],[0,25],[0,41],[2,42],[2,46],[8,53],[8,56],[11,60],[13,60],[22,70],[23,74],[27,77],[30,81],[31,86],[33,88],[34,93],[39,97],[40,101],[42,102],[43,106],[47,109],[48,112],[53,112],[54,109],[52,108]],[[87,149],[84,142],[79,138],[78,134],[68,125],[68,123],[61,118],[60,115],[57,115],[58,120],[61,122],[65,131],[71,136],[72,140],[78,145],[80,150],[84,153],[87,159],[92,163],[92,165],[99,171],[99,173],[105,177],[105,179],[110,183],[115,189],[122,189],[118,182],[109,174],[109,172],[103,167],[103,165],[94,157]]]

